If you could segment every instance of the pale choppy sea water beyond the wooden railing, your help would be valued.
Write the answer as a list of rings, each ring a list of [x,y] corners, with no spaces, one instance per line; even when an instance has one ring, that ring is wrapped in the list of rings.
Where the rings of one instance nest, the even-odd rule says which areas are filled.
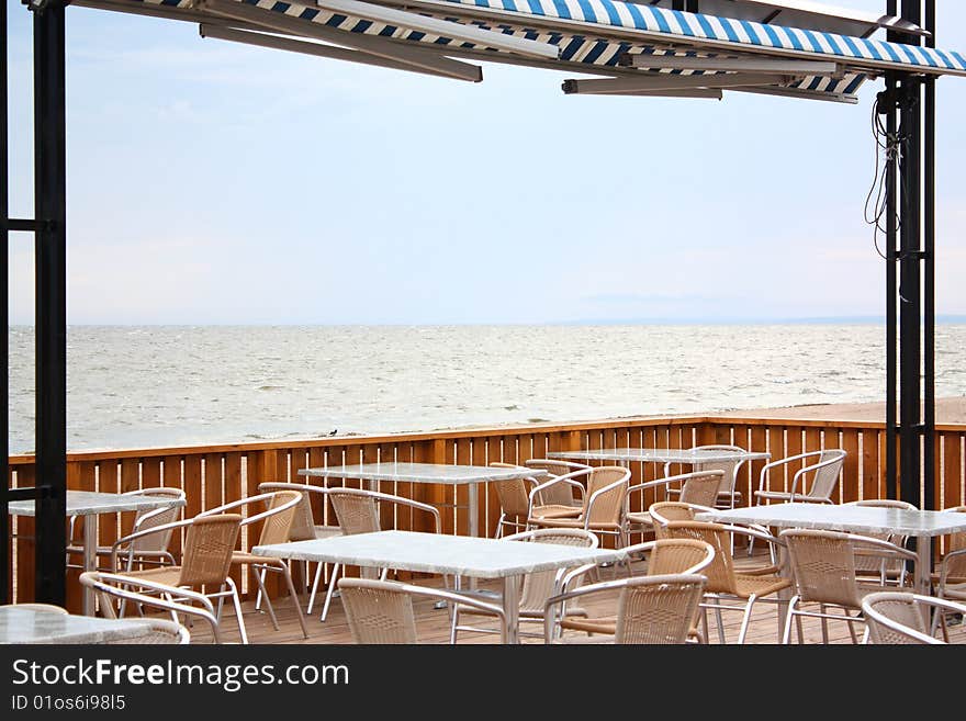
[[[885,328],[832,325],[72,326],[68,449],[704,414],[885,397]],[[34,449],[34,329],[10,348],[10,452]],[[936,328],[966,394],[966,325]]]

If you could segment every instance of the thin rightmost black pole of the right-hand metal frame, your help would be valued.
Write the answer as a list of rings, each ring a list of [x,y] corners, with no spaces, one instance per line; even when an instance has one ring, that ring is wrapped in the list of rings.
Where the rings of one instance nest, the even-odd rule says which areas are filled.
[[[925,0],[928,47],[935,47],[935,0]],[[922,507],[935,509],[935,78],[924,83],[923,101],[923,170],[922,170],[922,350],[923,360],[923,497]]]

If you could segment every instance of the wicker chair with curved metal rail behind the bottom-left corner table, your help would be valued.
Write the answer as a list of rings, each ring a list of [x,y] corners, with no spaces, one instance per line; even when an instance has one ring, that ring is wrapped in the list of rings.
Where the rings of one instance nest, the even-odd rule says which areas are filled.
[[[130,576],[98,571],[80,574],[80,583],[88,588],[92,588],[98,594],[101,613],[106,618],[117,618],[117,613],[114,610],[115,601],[131,602],[136,605],[142,613],[145,608],[169,612],[171,615],[171,622],[176,623],[179,628],[183,628],[179,616],[191,620],[202,620],[207,623],[211,630],[212,642],[221,643],[218,619],[215,617],[214,606],[203,594],[181,588],[178,590],[178,600],[176,601],[166,596],[170,589],[162,584],[144,579],[136,581]],[[168,621],[160,619],[150,620],[168,623]],[[187,629],[184,633],[187,636]],[[164,638],[164,632],[160,638]],[[164,641],[151,641],[147,636],[132,639],[131,643],[164,643]],[[186,640],[183,643],[188,643],[188,641]]]

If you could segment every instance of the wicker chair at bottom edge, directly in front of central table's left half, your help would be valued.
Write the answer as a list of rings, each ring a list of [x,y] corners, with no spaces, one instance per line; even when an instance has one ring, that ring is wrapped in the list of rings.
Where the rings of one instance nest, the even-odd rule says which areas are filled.
[[[459,604],[494,616],[501,621],[501,642],[506,642],[503,609],[479,598],[372,578],[340,578],[338,587],[356,643],[418,643],[413,598]]]

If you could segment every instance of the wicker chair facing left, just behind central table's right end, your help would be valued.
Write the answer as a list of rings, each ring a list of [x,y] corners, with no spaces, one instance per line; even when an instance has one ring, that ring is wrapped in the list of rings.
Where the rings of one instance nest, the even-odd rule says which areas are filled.
[[[627,545],[627,489],[630,471],[617,465],[602,465],[589,471],[576,471],[587,475],[584,505],[577,516],[560,517],[552,514],[536,515],[535,500],[544,487],[562,483],[560,476],[538,485],[530,492],[531,528],[582,528],[598,534],[615,537],[618,548]],[[573,475],[573,474],[570,474]]]

